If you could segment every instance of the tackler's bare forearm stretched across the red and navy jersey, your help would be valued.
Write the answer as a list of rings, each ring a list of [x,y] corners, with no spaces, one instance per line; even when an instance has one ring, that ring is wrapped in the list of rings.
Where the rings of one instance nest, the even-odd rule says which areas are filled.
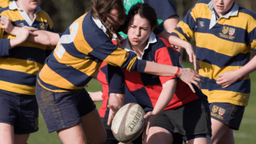
[[[159,63],[154,63],[147,61],[146,67],[143,73],[149,73],[151,75],[160,75],[160,76],[173,76],[177,73],[178,67],[170,65],[162,65]]]

